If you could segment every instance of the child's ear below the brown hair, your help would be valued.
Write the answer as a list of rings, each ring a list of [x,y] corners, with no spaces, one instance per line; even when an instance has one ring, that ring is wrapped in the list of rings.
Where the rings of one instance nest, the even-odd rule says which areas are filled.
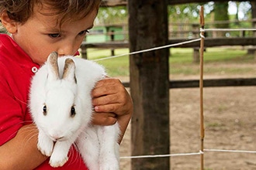
[[[15,34],[17,32],[18,22],[10,19],[9,15],[7,14],[7,12],[2,12],[1,22],[2,22],[2,26],[4,26],[5,29],[8,32],[10,32],[11,34]]]

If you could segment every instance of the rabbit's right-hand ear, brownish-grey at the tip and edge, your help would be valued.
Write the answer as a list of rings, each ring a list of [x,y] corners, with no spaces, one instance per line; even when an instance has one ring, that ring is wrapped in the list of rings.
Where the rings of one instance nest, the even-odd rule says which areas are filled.
[[[75,64],[74,64],[73,59],[71,59],[71,58],[67,58],[65,60],[63,79],[69,80],[69,81],[74,81],[74,83],[77,83],[77,80],[75,77]]]

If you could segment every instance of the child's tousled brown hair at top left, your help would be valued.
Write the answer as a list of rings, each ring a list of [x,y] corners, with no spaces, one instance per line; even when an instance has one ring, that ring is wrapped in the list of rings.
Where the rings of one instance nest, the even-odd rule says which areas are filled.
[[[0,15],[7,12],[9,18],[24,23],[33,15],[34,5],[45,5],[52,13],[43,15],[61,15],[60,23],[67,19],[84,18],[88,13],[99,9],[101,0],[0,0]]]

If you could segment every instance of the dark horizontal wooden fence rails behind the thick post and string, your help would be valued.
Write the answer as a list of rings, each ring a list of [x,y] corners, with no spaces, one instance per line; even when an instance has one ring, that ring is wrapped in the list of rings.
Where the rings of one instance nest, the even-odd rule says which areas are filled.
[[[244,21],[245,22],[245,21]],[[247,22],[255,22],[255,20],[247,21]],[[223,22],[219,22],[223,23]],[[232,22],[238,23],[238,21]],[[216,23],[209,23],[214,26]],[[172,26],[174,26],[173,24]],[[176,23],[178,25],[178,23]],[[199,38],[199,26],[196,24],[188,24],[193,27],[191,31],[180,30],[178,33],[188,33],[192,32],[194,38]],[[196,29],[196,30],[195,30]],[[175,33],[175,32],[171,32]],[[256,46],[256,37],[248,36],[248,33],[240,32],[240,36],[235,37],[217,37],[208,36],[205,39],[205,47],[215,47],[215,46]],[[186,38],[178,38],[177,36],[174,38],[173,36],[169,36],[171,39],[168,40],[168,44],[176,44],[179,42],[185,42],[189,40],[189,37]],[[180,46],[173,46],[171,48],[193,48],[198,50],[200,42],[191,42],[186,43]],[[129,42],[102,42],[102,43],[88,43],[82,42],[81,49],[84,56],[86,56],[86,49],[88,48],[99,48],[99,49],[118,49],[118,48],[129,48]],[[130,87],[129,82],[123,83],[125,87]],[[235,79],[214,79],[214,80],[204,80],[204,87],[236,87],[236,86],[256,86],[256,78],[235,78]],[[191,88],[191,87],[199,87],[199,80],[170,80],[169,82],[170,88]]]

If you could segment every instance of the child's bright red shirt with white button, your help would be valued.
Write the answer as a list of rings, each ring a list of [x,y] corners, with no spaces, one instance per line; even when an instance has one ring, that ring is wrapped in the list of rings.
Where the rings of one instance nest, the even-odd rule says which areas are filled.
[[[0,146],[14,138],[24,124],[32,123],[27,101],[35,67],[38,69],[40,66],[33,63],[10,36],[0,34]],[[88,170],[74,146],[63,167],[52,168],[48,162],[43,162],[36,169]]]

